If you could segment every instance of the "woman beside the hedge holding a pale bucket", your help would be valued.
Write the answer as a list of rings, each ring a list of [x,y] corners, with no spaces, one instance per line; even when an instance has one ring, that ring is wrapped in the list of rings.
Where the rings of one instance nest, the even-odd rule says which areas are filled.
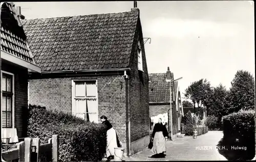
[[[100,120],[102,124],[106,125],[106,157],[108,159],[114,158],[115,147],[121,147],[120,141],[118,140],[117,132],[113,128],[112,124],[108,121],[106,116],[101,116]]]

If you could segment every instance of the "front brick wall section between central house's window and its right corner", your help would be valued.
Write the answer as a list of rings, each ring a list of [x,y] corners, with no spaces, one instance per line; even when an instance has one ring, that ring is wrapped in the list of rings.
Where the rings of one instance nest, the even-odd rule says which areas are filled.
[[[105,115],[116,129],[121,142],[126,142],[125,79],[123,76],[98,77],[99,117]]]

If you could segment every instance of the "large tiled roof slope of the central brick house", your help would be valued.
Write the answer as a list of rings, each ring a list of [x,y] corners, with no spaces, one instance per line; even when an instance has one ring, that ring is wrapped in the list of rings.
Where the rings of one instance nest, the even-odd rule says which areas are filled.
[[[23,21],[41,71],[127,68],[139,11]]]

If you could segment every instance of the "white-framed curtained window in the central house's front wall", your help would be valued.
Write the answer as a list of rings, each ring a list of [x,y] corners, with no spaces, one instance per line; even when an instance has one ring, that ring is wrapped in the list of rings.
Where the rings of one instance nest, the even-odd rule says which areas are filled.
[[[98,122],[96,80],[72,80],[72,114],[90,122]]]

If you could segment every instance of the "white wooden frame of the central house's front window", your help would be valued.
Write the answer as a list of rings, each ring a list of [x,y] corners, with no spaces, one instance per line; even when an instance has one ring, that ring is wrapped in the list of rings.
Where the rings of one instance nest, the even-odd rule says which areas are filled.
[[[85,96],[85,97],[75,97],[75,83],[79,81],[79,82],[90,82],[90,81],[95,81],[95,84],[96,84],[96,88],[97,88],[97,93],[96,93],[96,96],[95,97],[92,97],[92,96]],[[97,109],[97,117],[99,115],[99,109],[98,109],[98,80],[97,79],[72,79],[71,80],[72,82],[72,115],[76,115],[75,113],[75,98],[81,98],[81,99],[90,99],[90,98],[96,98],[96,109]],[[86,88],[85,88],[86,90]],[[87,120],[87,114],[88,112],[86,112],[86,117],[84,118],[84,120]],[[90,121],[91,122],[91,121]],[[98,120],[96,121],[96,123],[98,123]]]

